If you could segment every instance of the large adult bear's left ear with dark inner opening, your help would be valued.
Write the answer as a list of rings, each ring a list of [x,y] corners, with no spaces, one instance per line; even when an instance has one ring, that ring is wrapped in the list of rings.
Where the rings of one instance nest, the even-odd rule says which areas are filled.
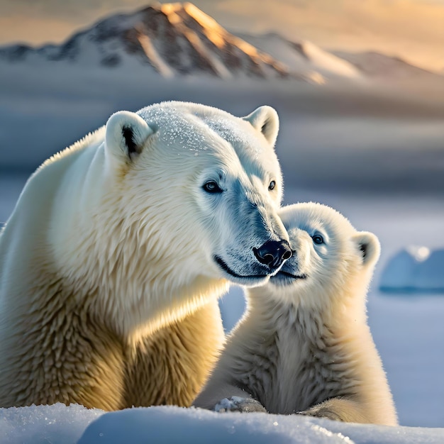
[[[136,113],[118,111],[106,122],[106,150],[123,161],[134,160],[154,132]]]

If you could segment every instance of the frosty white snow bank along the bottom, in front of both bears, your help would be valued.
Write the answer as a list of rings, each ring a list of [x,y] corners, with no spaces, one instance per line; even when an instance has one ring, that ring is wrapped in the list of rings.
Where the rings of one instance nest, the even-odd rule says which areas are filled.
[[[443,438],[444,428],[346,424],[304,416],[217,414],[175,406],[111,413],[64,404],[0,409],[2,444],[440,444]]]

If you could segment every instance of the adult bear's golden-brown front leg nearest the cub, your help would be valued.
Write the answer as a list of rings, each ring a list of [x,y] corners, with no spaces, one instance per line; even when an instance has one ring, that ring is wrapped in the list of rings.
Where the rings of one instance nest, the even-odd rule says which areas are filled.
[[[217,299],[146,338],[127,360],[125,404],[189,407],[223,346]]]

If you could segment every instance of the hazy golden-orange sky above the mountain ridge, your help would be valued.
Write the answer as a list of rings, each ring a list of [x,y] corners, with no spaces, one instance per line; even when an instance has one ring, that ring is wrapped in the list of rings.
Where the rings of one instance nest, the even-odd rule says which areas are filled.
[[[0,0],[0,45],[60,43],[150,0]],[[167,3],[161,1],[160,3]],[[378,50],[444,72],[444,0],[194,0],[228,30],[277,31],[326,49]],[[272,5],[272,6],[271,6]]]

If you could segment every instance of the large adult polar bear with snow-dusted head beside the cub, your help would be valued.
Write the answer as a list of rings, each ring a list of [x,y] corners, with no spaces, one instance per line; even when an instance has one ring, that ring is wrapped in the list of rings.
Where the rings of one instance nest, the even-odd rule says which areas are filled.
[[[292,253],[278,118],[120,111],[28,180],[0,235],[0,406],[189,405],[223,342],[228,281]]]

